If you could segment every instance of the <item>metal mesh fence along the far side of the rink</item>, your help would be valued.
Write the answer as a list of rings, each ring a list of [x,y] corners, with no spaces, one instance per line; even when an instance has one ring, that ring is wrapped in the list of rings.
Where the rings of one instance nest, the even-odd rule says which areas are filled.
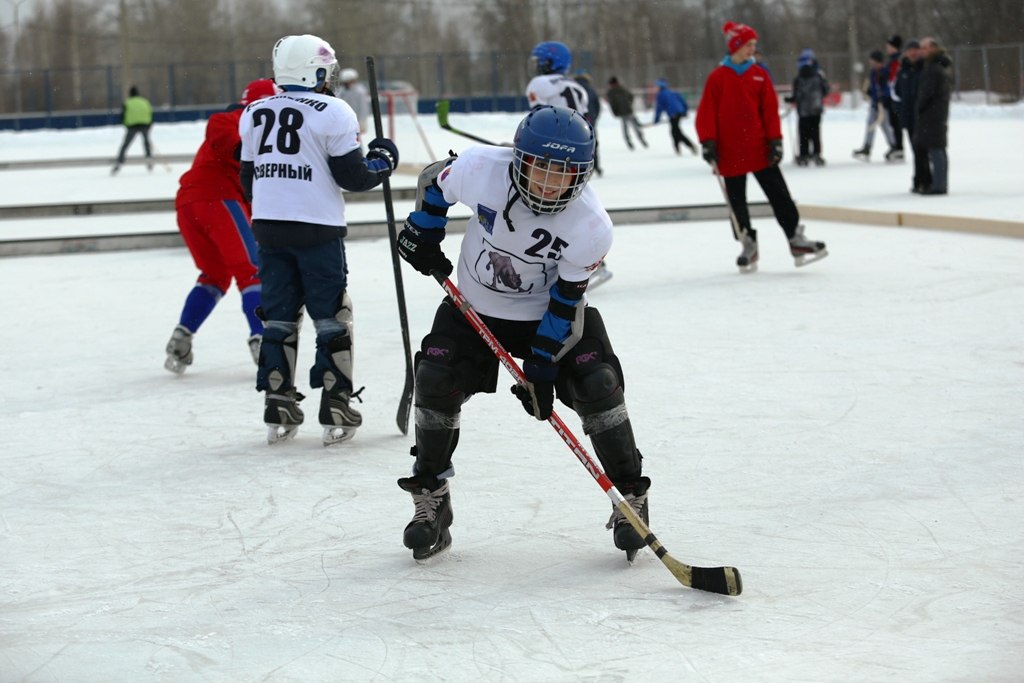
[[[1024,43],[956,46],[949,52],[957,91],[982,91],[988,103],[1024,99]],[[835,88],[850,90],[851,83],[859,88],[862,76],[846,53],[819,53],[818,59]],[[378,55],[376,62],[383,81],[412,84],[425,105],[436,98],[452,97],[482,100],[485,108],[488,98],[497,101],[521,96],[530,77],[528,60],[518,52]],[[766,63],[776,84],[784,86],[796,76],[796,55],[768,54]],[[575,55],[574,63],[591,73],[599,92],[614,75],[634,88],[664,78],[691,97],[699,95],[715,66],[714,60],[694,60],[616,69],[586,51]],[[236,101],[246,83],[268,77],[270,72],[265,60],[135,65],[127,77],[131,82],[124,83],[121,65],[0,69],[0,120],[66,112],[117,112],[129,85],[137,86],[163,111],[223,105]]]

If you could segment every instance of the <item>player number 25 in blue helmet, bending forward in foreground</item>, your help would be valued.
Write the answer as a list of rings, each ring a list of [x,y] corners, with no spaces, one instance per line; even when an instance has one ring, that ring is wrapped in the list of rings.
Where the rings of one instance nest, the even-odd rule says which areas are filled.
[[[469,147],[424,169],[398,253],[423,274],[450,275],[440,247],[447,210],[460,203],[473,211],[458,286],[505,349],[523,359],[527,382],[512,393],[538,420],[551,417],[555,396],[575,411],[611,481],[646,519],[650,479],[626,410],[622,365],[586,298],[612,237],[611,219],[587,184],[593,129],[578,112],[542,105],[519,124],[513,144]],[[412,475],[398,479],[416,508],[403,536],[416,559],[451,545],[462,404],[497,385],[497,357],[445,299],[416,355],[416,462]],[[617,509],[607,526],[628,559],[644,546]]]

